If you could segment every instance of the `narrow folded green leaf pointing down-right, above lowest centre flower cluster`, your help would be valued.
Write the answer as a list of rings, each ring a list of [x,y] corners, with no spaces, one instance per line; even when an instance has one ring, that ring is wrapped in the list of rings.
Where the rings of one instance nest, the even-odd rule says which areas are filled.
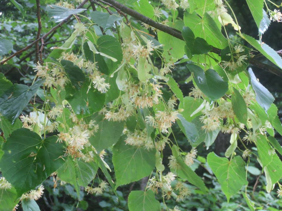
[[[207,193],[207,188],[203,180],[189,166],[187,166],[183,162],[182,158],[179,156],[179,152],[176,145],[172,147],[172,155],[176,157],[177,164],[179,166],[179,168],[176,169],[176,174],[183,179],[187,179],[189,183],[193,184],[194,186],[197,186],[204,193]],[[171,171],[175,172],[175,170],[173,169],[171,169]]]

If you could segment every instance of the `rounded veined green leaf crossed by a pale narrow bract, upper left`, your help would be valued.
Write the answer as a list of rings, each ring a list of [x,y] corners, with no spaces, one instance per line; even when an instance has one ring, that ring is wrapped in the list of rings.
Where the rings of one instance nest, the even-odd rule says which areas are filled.
[[[113,62],[112,59],[103,57],[105,63],[109,68],[109,74],[112,74],[117,69],[118,65],[120,64],[123,58],[123,53],[120,43],[117,41],[116,38],[110,35],[103,35],[98,38],[97,47],[99,52],[102,52],[110,57],[117,59],[116,62]]]

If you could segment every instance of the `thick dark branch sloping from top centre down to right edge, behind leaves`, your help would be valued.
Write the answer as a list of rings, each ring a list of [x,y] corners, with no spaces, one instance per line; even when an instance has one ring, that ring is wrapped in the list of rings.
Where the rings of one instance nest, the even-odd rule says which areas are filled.
[[[143,16],[142,14],[136,12],[133,9],[128,8],[127,6],[125,6],[123,4],[120,4],[119,2],[117,2],[115,0],[97,0],[97,1],[100,1],[100,2],[104,1],[105,3],[107,3],[107,5],[110,4],[110,5],[112,5],[113,8],[117,8],[120,11],[122,11],[122,12],[124,12],[124,13],[126,13],[126,14],[134,17],[134,18],[136,18],[137,20],[142,21],[143,23],[146,23],[146,24],[148,24],[148,25],[150,25],[150,26],[152,26],[152,27],[154,27],[154,28],[156,28],[158,30],[161,30],[161,31],[163,31],[165,33],[168,33],[168,34],[170,34],[170,35],[172,35],[172,36],[174,36],[174,37],[176,37],[176,38],[178,38],[180,40],[184,40],[183,37],[182,37],[181,31],[179,31],[179,30],[177,30],[175,28],[172,28],[172,27],[165,26],[165,25],[162,25],[160,23],[157,23],[157,22],[153,21],[151,18]],[[212,47],[211,52],[214,52],[214,53],[220,55],[221,50],[218,49],[218,48]],[[263,62],[260,62],[260,61],[258,61],[256,59],[250,59],[250,64],[253,64],[256,67],[259,67],[259,68],[261,68],[261,69],[263,69],[265,71],[271,72],[273,74],[276,74],[277,76],[282,77],[282,71],[280,69],[272,67],[272,66],[270,66],[268,64],[265,64]]]

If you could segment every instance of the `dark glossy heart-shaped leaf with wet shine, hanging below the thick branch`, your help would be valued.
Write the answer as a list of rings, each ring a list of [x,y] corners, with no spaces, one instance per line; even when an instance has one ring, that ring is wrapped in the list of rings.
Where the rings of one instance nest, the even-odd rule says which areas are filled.
[[[193,74],[195,83],[199,89],[212,100],[217,100],[224,96],[228,90],[228,83],[224,81],[213,69],[206,72],[195,65],[187,64],[189,71]]]

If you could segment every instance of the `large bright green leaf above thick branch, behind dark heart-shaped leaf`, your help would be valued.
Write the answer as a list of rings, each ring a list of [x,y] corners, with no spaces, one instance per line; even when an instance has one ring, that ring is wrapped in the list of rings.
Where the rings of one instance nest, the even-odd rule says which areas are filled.
[[[207,13],[201,19],[195,14],[184,13],[184,24],[188,26],[195,37],[203,38],[209,45],[223,49],[228,41],[217,27],[216,23]]]

